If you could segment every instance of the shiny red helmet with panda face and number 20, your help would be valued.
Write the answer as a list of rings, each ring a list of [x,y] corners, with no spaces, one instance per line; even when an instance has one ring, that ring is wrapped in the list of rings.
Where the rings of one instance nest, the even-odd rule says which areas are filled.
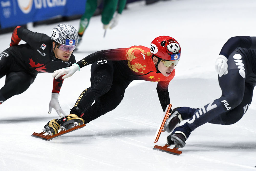
[[[150,52],[167,61],[179,60],[181,48],[177,40],[170,36],[159,36],[150,44]]]

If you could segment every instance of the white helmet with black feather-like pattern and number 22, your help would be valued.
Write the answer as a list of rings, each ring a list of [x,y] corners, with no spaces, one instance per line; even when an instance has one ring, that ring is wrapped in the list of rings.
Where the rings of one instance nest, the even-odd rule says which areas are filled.
[[[59,44],[73,46],[78,42],[77,30],[69,24],[59,24],[51,31],[51,39]]]

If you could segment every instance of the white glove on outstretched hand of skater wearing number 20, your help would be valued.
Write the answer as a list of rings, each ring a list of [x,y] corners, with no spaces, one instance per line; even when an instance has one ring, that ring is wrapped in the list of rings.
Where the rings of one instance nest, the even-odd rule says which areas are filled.
[[[62,77],[62,79],[65,79],[65,78],[68,78],[70,76],[72,76],[76,71],[80,71],[80,67],[78,64],[74,63],[72,64],[70,67],[67,67],[67,68],[62,68],[62,69],[59,69],[59,70],[56,70],[54,71],[52,74],[52,77],[55,77],[55,79],[59,78],[61,75],[64,75]]]

